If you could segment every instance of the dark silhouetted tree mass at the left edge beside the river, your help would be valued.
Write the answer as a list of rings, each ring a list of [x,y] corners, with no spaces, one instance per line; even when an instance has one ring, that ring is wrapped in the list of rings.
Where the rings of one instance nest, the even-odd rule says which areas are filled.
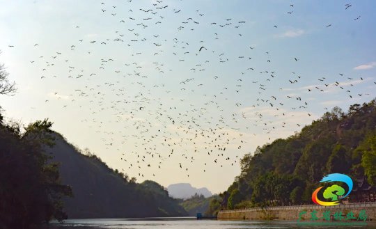
[[[0,226],[29,228],[51,219],[66,219],[61,198],[72,189],[59,179],[58,164],[49,163],[45,143],[53,144],[52,123],[37,121],[20,134],[20,125],[0,124]]]

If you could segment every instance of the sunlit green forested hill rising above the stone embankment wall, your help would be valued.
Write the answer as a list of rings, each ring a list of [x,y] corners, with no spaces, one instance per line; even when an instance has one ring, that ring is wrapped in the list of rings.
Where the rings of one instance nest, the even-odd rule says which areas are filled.
[[[335,107],[288,139],[258,147],[244,156],[241,171],[221,194],[222,208],[311,203],[312,191],[329,173],[364,176],[375,186],[375,100],[347,112]]]

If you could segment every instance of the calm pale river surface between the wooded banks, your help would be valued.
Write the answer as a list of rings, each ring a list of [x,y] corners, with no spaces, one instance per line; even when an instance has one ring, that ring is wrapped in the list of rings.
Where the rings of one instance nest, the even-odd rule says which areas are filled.
[[[308,222],[310,223],[310,222]],[[297,225],[296,221],[217,221],[196,219],[70,219],[63,224],[52,223],[51,229],[244,229],[244,228],[367,228],[376,229],[375,222],[367,225]]]

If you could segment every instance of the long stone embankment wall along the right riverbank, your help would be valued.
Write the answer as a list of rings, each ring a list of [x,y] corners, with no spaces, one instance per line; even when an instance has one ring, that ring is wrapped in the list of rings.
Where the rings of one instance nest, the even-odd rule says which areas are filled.
[[[312,219],[311,213],[313,211],[315,211],[315,215],[318,217],[319,220],[322,219],[323,213],[325,211],[330,211],[331,219],[334,219],[334,214],[336,212],[341,212],[344,219],[346,219],[346,216],[348,216],[347,214],[350,214],[350,212],[352,212],[355,218],[358,218],[359,214],[361,213],[361,215],[364,217],[365,213],[367,221],[376,221],[376,202],[350,203],[345,205],[335,205],[329,207],[321,205],[296,205],[285,207],[251,208],[244,210],[224,210],[218,213],[217,219],[279,219],[297,221],[299,219],[299,214],[301,214],[301,221],[310,221]]]

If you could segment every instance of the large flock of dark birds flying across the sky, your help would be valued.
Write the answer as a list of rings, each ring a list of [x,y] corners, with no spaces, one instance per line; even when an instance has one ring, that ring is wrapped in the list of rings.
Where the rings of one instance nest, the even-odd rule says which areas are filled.
[[[175,166],[188,177],[194,168],[206,172],[212,166],[238,166],[240,157],[249,152],[249,136],[301,129],[294,116],[312,116],[307,111],[308,97],[325,95],[327,90],[343,90],[348,99],[362,96],[352,93],[362,77],[338,73],[335,81],[320,77],[317,84],[305,86],[300,84],[304,75],[299,72],[281,75],[270,50],[259,50],[263,54],[256,56],[258,47],[247,45],[244,19],[224,17],[210,22],[206,12],[185,12],[164,1],[152,1],[148,8],[136,8],[134,0],[121,4],[104,1],[97,6],[97,17],[118,28],[111,34],[77,38],[65,49],[36,56],[30,65],[40,72],[40,84],[49,80],[70,85],[69,92],[53,91],[53,97],[46,97],[46,106],[86,113],[81,125],[100,136],[108,152],[122,161],[123,171],[141,179],[155,176],[172,157],[180,161]],[[344,10],[351,6],[346,4]],[[296,6],[288,4],[287,8],[285,16],[293,17]],[[167,19],[166,13],[174,17]],[[169,26],[161,29],[162,24]],[[200,40],[196,31],[202,31],[201,26],[212,40]],[[269,26],[279,28],[279,24]],[[322,25],[324,29],[329,26]],[[214,42],[226,42],[228,33],[230,40],[244,44],[243,54],[213,49],[217,47]],[[42,45],[36,42],[34,47]],[[113,57],[110,51],[122,57]],[[71,56],[81,56],[82,61],[72,61]],[[304,58],[286,56],[292,66]],[[254,64],[255,59],[266,67]],[[232,75],[222,73],[235,62],[240,68]],[[284,85],[279,85],[281,81]],[[247,97],[245,102],[249,91],[256,97]],[[61,101],[60,107],[56,100]]]

